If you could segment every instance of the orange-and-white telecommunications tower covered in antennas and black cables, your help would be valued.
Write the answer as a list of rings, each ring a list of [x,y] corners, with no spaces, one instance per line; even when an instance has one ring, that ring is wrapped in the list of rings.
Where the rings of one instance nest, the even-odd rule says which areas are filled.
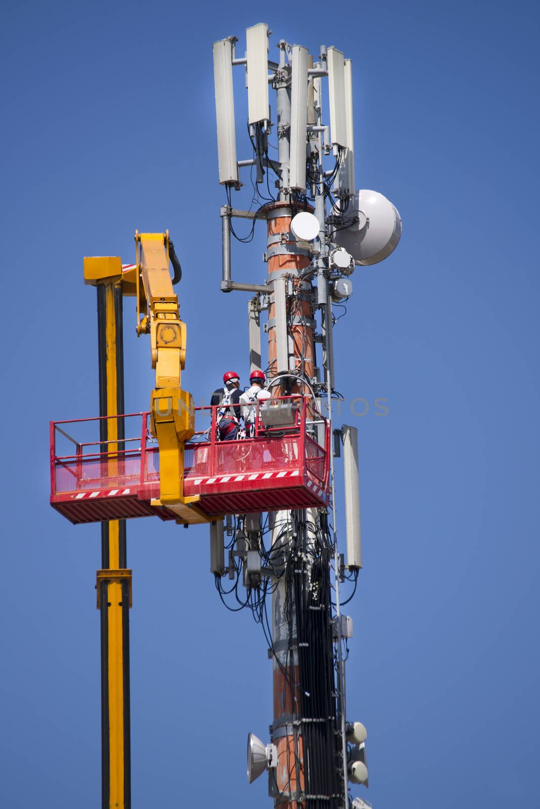
[[[340,397],[334,387],[332,307],[351,295],[355,265],[376,264],[393,252],[402,223],[380,193],[355,188],[351,60],[335,47],[322,46],[314,58],[304,46],[279,40],[279,58],[273,61],[270,33],[265,23],[248,28],[243,56],[236,36],[213,46],[219,183],[227,195],[221,208],[221,290],[253,294],[249,362],[252,371],[266,368],[272,394],[260,413],[266,434],[274,430],[272,441],[285,442],[302,400],[306,464],[314,471],[327,449],[328,494],[312,507],[291,502],[289,509],[253,510],[227,517],[225,527],[216,520],[210,527],[211,570],[222,598],[223,577],[236,578],[236,588],[242,578],[244,604],[263,625],[270,646],[274,717],[269,743],[249,734],[249,781],[267,770],[275,807],[348,809],[348,781],[368,786],[367,733],[360,722],[347,721],[345,647],[352,622],[342,615],[339,587],[345,579],[356,587],[362,553],[357,430],[332,426],[332,400]],[[248,155],[242,159],[236,152],[237,66],[245,71],[248,93]],[[249,210],[233,203],[243,186],[250,193],[253,188]],[[236,233],[233,220],[239,218],[249,222],[246,235]],[[233,281],[231,236],[251,241],[259,221],[266,222],[266,277]],[[268,335],[267,355],[261,326]],[[275,432],[279,427],[281,434]],[[272,447],[266,451],[271,455]],[[280,451],[294,454],[283,444]],[[335,457],[343,462],[346,555],[336,529],[342,493],[334,485]],[[315,487],[314,481],[308,485]]]

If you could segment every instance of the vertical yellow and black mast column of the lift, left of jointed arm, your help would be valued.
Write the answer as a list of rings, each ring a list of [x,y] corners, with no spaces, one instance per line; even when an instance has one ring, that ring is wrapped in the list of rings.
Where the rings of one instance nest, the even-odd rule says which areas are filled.
[[[117,256],[84,259],[84,281],[96,286],[100,416],[124,413],[122,269]],[[124,421],[100,421],[101,452],[108,476],[124,449]],[[130,619],[131,570],[127,569],[125,520],[101,523],[101,570],[97,571],[101,625],[101,806],[130,809]]]

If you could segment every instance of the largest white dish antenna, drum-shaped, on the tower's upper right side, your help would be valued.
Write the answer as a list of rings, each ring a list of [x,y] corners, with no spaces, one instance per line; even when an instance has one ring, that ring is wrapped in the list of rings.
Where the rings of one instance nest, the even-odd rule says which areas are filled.
[[[382,194],[365,189],[358,191],[348,215],[358,217],[359,221],[336,231],[334,239],[351,253],[355,264],[377,264],[395,250],[402,235],[402,219]]]

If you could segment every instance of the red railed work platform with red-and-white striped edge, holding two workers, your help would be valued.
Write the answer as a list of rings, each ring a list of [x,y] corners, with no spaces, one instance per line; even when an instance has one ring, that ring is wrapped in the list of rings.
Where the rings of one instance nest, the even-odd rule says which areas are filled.
[[[253,438],[236,441],[216,439],[218,408],[195,410],[196,426],[205,418],[210,426],[186,444],[184,493],[200,495],[197,506],[206,515],[327,505],[328,423],[313,414],[306,397],[267,400]],[[95,434],[103,418],[51,421],[51,506],[74,524],[151,515],[178,519],[167,507],[151,505],[159,498],[159,450],[149,414],[108,418],[118,431],[108,442]],[[74,447],[70,455],[57,453],[60,438]]]

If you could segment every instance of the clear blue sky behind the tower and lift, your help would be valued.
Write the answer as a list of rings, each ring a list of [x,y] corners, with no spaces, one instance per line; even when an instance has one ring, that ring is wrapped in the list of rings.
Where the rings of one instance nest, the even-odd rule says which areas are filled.
[[[370,766],[368,792],[353,794],[375,809],[456,798],[530,809],[538,6],[462,0],[4,9],[0,803],[100,802],[99,527],[72,527],[48,503],[49,419],[98,410],[83,256],[133,260],[135,228],[168,227],[184,267],[185,387],[200,399],[223,366],[247,371],[246,296],[219,291],[210,45],[235,34],[243,46],[261,19],[272,48],[283,37],[352,58],[357,185],[403,219],[393,256],[355,270],[334,333],[336,386],[371,405],[351,422],[364,570],[349,605],[348,704],[368,727]],[[262,227],[233,245],[236,280],[261,282],[264,248]],[[128,300],[130,411],[152,387],[134,321]],[[245,777],[246,735],[266,738],[271,721],[266,643],[250,615],[220,604],[206,529],[131,521],[128,561],[134,807],[270,805],[265,779]]]

